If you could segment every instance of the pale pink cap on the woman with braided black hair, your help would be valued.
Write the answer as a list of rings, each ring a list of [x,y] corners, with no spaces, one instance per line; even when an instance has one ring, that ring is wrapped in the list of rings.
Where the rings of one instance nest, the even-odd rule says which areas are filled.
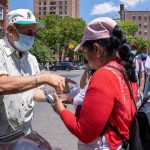
[[[74,51],[80,50],[86,41],[109,38],[116,25],[117,23],[108,17],[94,19],[85,28],[82,41]]]

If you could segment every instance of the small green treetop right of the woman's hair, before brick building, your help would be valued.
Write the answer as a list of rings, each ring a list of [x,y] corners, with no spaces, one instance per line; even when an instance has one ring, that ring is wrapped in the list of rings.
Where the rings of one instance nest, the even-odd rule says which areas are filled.
[[[123,29],[127,37],[135,36],[135,33],[138,31],[138,25],[132,21],[120,21],[118,25]]]

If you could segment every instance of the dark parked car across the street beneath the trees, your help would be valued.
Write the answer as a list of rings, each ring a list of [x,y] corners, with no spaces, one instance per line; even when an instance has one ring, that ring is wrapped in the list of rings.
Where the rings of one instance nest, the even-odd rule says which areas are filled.
[[[68,61],[54,62],[54,64],[49,67],[49,70],[52,70],[52,71],[57,71],[57,70],[70,71],[73,69],[74,69],[73,64],[71,62],[68,62]]]

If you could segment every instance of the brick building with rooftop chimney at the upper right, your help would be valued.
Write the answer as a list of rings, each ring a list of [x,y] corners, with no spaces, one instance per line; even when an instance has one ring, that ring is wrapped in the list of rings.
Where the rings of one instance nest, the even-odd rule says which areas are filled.
[[[150,11],[127,11],[120,5],[120,19],[130,20],[139,25],[137,37],[150,39]]]

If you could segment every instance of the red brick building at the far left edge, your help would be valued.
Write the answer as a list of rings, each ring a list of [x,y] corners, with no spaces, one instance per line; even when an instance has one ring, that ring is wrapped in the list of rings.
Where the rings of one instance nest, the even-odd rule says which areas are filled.
[[[9,0],[0,0],[0,38],[6,31],[6,14],[9,11]]]

